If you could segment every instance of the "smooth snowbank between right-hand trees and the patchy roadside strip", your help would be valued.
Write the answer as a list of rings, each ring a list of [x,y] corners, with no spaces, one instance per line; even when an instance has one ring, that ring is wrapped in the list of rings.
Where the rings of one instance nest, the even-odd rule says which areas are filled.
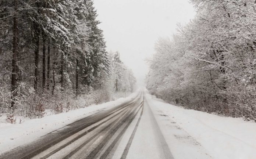
[[[192,135],[214,159],[256,159],[256,123],[183,109],[147,95],[149,105],[161,109]]]

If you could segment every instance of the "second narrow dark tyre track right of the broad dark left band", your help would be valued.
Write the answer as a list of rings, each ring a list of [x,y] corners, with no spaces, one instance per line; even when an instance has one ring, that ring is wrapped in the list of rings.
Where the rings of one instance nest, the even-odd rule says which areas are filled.
[[[128,107],[128,109],[130,109],[132,106]],[[122,113],[120,116],[125,115],[124,112]],[[72,155],[74,155],[76,152],[78,152],[81,148],[83,148],[86,144],[88,144],[90,141],[92,141],[95,137],[97,137],[100,133],[102,133],[103,131],[110,129],[110,127],[112,125],[114,125],[118,120],[120,120],[119,118],[115,119],[113,122],[111,122],[109,125],[107,125],[106,127],[104,127],[104,129],[100,130],[97,134],[93,135],[92,137],[90,137],[86,142],[84,142],[82,145],[80,145],[79,147],[77,147],[75,150],[71,151],[67,156],[65,156],[63,159],[69,159]]]

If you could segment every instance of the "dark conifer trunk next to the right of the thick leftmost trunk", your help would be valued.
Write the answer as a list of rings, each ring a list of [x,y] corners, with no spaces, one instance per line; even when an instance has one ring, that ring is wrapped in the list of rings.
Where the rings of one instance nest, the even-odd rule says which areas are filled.
[[[39,28],[37,26],[37,24],[35,24],[36,30],[35,30],[35,84],[34,84],[34,89],[38,90],[38,64],[39,64],[39,40],[40,40],[40,31]]]

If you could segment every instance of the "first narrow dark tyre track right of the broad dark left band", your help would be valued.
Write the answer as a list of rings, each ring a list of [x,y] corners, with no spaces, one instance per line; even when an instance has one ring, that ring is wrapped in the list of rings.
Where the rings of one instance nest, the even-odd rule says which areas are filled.
[[[91,129],[85,131],[84,133],[78,135],[77,137],[75,137],[75,138],[72,139],[71,141],[67,142],[66,144],[64,144],[64,145],[62,145],[61,147],[55,149],[54,151],[50,152],[49,154],[47,154],[46,156],[44,156],[44,157],[42,157],[42,158],[40,158],[40,159],[46,159],[46,158],[50,157],[50,156],[53,155],[54,153],[60,151],[61,149],[67,147],[68,145],[70,145],[72,142],[75,142],[76,140],[78,140],[79,138],[81,138],[81,137],[83,137],[84,135],[88,134],[89,132],[93,131],[93,130],[96,129],[97,127],[99,127],[99,126],[101,126],[102,124],[104,124],[104,123],[108,122],[109,120],[113,119],[115,116],[121,114],[122,112],[124,112],[124,111],[125,111],[126,109],[128,109],[129,107],[124,107],[124,108],[125,108],[124,110],[118,112],[118,113],[115,114],[114,116],[111,116],[111,118],[105,120],[104,122],[102,122],[102,123],[100,123],[100,124],[98,124],[98,125],[92,127]],[[85,129],[86,129],[86,128],[85,128]]]

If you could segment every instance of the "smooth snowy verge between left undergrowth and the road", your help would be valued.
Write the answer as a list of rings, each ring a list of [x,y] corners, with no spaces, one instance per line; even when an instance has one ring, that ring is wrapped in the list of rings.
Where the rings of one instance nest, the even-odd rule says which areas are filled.
[[[73,123],[76,120],[85,118],[99,109],[109,109],[123,102],[135,98],[138,91],[129,95],[129,97],[119,98],[115,101],[110,101],[100,105],[91,105],[86,108],[76,109],[66,113],[45,116],[40,119],[26,120],[24,123],[10,124],[0,122],[0,154],[10,149],[27,144],[36,140],[51,131],[60,129],[67,124]]]

